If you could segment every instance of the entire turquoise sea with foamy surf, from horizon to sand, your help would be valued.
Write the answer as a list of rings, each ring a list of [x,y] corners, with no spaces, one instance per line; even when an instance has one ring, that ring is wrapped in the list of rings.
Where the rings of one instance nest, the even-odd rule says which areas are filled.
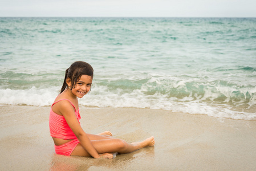
[[[0,104],[51,105],[76,60],[86,107],[256,119],[256,18],[0,18]]]

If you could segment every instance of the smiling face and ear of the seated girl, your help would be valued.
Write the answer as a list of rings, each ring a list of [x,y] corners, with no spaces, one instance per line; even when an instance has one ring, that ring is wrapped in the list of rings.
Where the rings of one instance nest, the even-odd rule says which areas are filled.
[[[71,86],[71,82],[68,82],[67,80],[67,84],[70,87]],[[76,82],[76,85],[74,88],[72,88],[71,92],[79,97],[82,98],[84,95],[86,95],[92,86],[92,77],[89,75],[82,75],[80,80],[78,80],[78,82]]]

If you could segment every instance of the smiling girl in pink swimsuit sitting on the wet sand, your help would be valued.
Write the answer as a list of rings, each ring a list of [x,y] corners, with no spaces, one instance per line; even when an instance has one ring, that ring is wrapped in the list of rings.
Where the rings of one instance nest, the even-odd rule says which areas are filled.
[[[99,135],[83,131],[79,122],[78,97],[82,98],[91,91],[93,77],[94,69],[86,62],[75,62],[66,70],[62,89],[51,106],[49,119],[56,154],[113,158],[112,153],[130,153],[155,145],[154,137],[139,143],[126,143],[114,139],[109,131]]]

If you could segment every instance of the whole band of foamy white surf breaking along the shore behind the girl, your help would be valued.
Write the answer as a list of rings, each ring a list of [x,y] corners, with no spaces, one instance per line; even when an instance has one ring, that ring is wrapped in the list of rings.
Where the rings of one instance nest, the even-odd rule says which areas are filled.
[[[60,86],[0,89],[0,104],[51,105]],[[256,88],[225,81],[201,79],[104,78],[95,80],[92,91],[79,104],[86,107],[135,107],[204,114],[232,119],[256,119]]]

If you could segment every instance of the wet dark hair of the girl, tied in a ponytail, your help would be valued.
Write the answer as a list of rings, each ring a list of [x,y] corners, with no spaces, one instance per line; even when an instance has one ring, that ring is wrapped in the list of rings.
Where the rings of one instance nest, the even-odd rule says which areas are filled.
[[[94,78],[94,68],[86,62],[76,61],[71,64],[69,68],[66,70],[64,82],[60,93],[62,93],[67,87],[67,78],[71,80],[71,89],[75,88],[76,82],[80,80],[82,75],[89,75]]]

